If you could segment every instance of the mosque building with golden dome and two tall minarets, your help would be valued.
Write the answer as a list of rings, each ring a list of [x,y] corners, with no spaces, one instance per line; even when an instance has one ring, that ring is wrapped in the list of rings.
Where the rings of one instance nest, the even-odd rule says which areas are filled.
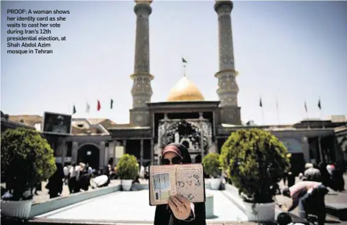
[[[184,75],[171,88],[167,101],[153,103],[151,81],[154,75],[149,70],[151,3],[135,1],[134,6],[136,38],[134,72],[130,75],[133,80],[130,123],[103,121],[93,124],[87,119],[74,120],[76,132],[72,135],[45,135],[57,159],[62,163],[84,161],[94,168],[103,168],[108,163],[117,164],[123,153],[129,153],[135,155],[141,165],[156,164],[164,146],[176,142],[187,146],[193,159],[198,160],[208,153],[219,153],[230,133],[256,127],[271,131],[287,146],[293,170],[300,171],[305,162],[345,160],[335,129],[342,127],[346,131],[346,121],[302,121],[276,126],[241,124],[230,16],[232,1],[214,3],[219,34],[219,68],[215,72],[218,100],[205,101],[198,87]],[[78,133],[81,124],[98,132]]]

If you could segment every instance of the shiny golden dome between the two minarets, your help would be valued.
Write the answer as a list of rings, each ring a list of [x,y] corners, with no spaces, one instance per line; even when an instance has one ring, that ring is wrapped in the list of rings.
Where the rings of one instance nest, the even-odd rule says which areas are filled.
[[[167,101],[204,101],[198,87],[184,76],[170,90]]]

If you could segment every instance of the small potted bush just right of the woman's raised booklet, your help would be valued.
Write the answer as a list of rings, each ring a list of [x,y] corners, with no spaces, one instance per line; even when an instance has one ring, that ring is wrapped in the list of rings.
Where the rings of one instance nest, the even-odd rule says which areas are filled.
[[[204,159],[202,159],[202,164],[204,165],[204,170],[206,174],[210,175],[211,189],[218,190],[221,185],[221,165],[219,163],[218,153],[208,153]]]

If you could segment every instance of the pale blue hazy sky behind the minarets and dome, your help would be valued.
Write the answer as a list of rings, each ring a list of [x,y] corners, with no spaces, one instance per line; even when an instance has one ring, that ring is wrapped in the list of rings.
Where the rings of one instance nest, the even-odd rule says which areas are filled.
[[[204,98],[218,101],[214,77],[218,23],[213,4],[152,3],[152,102],[166,101],[183,75],[182,57],[188,62],[187,77]],[[134,1],[1,1],[1,110],[10,115],[72,114],[75,105],[73,118],[128,123],[133,8]],[[69,10],[67,20],[51,34],[66,36],[66,41],[51,42],[51,55],[7,54],[8,9]],[[291,124],[307,117],[347,115],[347,1],[235,1],[231,15],[243,122]],[[91,105],[89,114],[86,103]]]

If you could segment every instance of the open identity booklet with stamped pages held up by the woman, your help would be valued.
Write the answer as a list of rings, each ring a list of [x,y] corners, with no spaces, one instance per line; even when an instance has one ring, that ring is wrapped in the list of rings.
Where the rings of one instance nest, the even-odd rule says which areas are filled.
[[[202,164],[149,166],[149,205],[167,204],[176,194],[190,202],[205,202]]]

